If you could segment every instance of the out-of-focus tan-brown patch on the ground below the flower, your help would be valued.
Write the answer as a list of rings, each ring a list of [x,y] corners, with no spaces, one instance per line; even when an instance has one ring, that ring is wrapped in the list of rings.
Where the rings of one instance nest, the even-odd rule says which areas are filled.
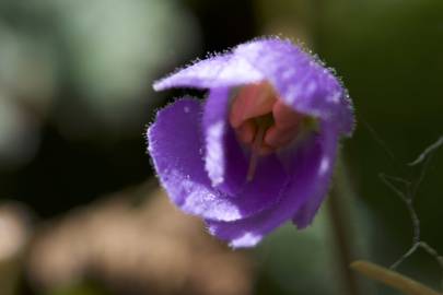
[[[151,194],[147,203],[131,205],[135,196],[145,193]],[[253,284],[244,251],[207,235],[198,219],[176,211],[163,191],[147,186],[49,226],[34,240],[28,264],[42,290],[63,292],[88,278],[117,294],[243,295]]]

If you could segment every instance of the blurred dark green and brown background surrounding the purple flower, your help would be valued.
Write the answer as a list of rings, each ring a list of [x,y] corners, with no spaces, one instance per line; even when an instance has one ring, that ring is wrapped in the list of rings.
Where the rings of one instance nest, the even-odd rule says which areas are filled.
[[[306,44],[349,88],[349,255],[397,260],[412,226],[378,175],[417,179],[406,164],[443,135],[441,0],[0,0],[0,294],[347,294],[325,206],[307,231],[288,225],[233,252],[189,241],[205,233],[194,220],[176,234],[165,216],[179,213],[154,202],[166,198],[144,131],[184,92],[154,93],[152,81],[269,34]],[[415,204],[440,252],[442,175],[438,151]],[[175,262],[184,249],[187,267]],[[442,276],[423,251],[398,270],[435,288]],[[360,281],[352,294],[399,294]]]

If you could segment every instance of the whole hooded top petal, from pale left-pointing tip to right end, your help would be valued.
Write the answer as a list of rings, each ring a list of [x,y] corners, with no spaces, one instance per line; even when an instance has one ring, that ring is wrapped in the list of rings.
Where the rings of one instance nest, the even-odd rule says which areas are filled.
[[[276,37],[198,61],[155,82],[154,90],[233,87],[259,81],[270,82],[294,110],[333,121],[348,135],[352,132],[352,104],[341,82],[319,60]]]

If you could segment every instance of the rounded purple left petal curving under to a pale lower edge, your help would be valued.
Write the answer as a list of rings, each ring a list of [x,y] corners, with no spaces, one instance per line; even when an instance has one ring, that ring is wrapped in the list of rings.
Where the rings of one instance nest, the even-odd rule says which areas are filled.
[[[281,191],[275,179],[247,186],[237,198],[212,188],[202,160],[201,113],[198,101],[183,98],[160,110],[148,130],[149,152],[171,200],[186,213],[214,221],[245,219],[273,204]]]

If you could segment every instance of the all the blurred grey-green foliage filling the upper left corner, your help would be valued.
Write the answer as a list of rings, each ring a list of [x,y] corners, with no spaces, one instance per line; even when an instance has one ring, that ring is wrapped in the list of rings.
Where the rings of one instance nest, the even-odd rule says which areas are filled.
[[[199,37],[193,15],[173,0],[4,0],[0,43],[5,166],[32,158],[48,117],[67,138],[125,138],[140,128],[158,104],[150,91],[158,71]]]

